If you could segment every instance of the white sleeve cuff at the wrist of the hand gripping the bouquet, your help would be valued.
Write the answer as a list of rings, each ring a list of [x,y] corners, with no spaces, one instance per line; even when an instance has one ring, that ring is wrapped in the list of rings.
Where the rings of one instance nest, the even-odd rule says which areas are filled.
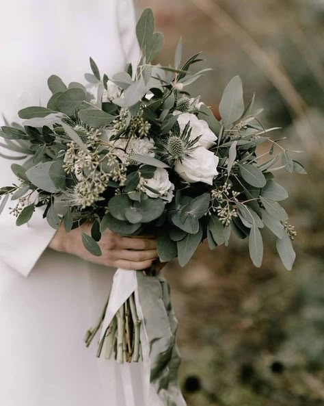
[[[5,153],[8,154],[8,151]],[[10,168],[10,160],[0,157],[1,187],[10,186],[17,181]],[[31,220],[17,227],[16,218],[10,214],[9,207],[15,201],[8,201],[5,210],[0,215],[0,263],[18,271],[27,277],[33,266],[42,255],[46,246],[55,234],[53,229],[42,218],[42,209],[36,209]]]

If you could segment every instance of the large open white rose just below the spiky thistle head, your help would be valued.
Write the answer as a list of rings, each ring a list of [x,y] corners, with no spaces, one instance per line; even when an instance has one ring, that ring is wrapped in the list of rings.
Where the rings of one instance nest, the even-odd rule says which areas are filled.
[[[176,162],[174,170],[189,183],[204,182],[213,184],[213,178],[218,175],[219,157],[204,147],[193,149],[191,156],[182,162]]]

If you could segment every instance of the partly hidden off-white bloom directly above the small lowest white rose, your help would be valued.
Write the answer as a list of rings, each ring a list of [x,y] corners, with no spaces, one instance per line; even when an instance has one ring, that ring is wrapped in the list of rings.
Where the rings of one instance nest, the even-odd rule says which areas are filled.
[[[154,152],[152,152],[152,149],[154,149],[154,142],[152,138],[132,137],[131,140],[129,140],[129,138],[119,138],[113,142],[113,146],[116,147],[116,149],[113,150],[113,153],[120,158],[123,164],[129,160],[129,155],[135,153],[154,157]],[[124,150],[126,146],[127,149],[125,152]]]

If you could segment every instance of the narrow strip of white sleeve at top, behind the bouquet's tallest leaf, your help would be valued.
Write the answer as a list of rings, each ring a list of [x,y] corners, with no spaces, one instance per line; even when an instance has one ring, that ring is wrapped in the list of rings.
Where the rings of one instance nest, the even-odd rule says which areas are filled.
[[[139,44],[136,37],[136,17],[133,0],[118,0],[118,29],[125,62],[135,68],[139,62]]]

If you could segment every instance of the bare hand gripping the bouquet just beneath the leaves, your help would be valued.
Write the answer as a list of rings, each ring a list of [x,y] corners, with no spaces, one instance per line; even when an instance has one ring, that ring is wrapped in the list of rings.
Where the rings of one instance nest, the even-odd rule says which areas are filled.
[[[81,229],[88,235],[91,234],[89,223],[83,224]],[[79,229],[66,233],[62,224],[49,243],[49,247],[55,251],[77,255],[95,264],[131,270],[149,268],[158,257],[157,242],[153,238],[122,237],[107,229],[101,235],[98,245],[103,253],[100,257],[92,255],[84,248]]]

